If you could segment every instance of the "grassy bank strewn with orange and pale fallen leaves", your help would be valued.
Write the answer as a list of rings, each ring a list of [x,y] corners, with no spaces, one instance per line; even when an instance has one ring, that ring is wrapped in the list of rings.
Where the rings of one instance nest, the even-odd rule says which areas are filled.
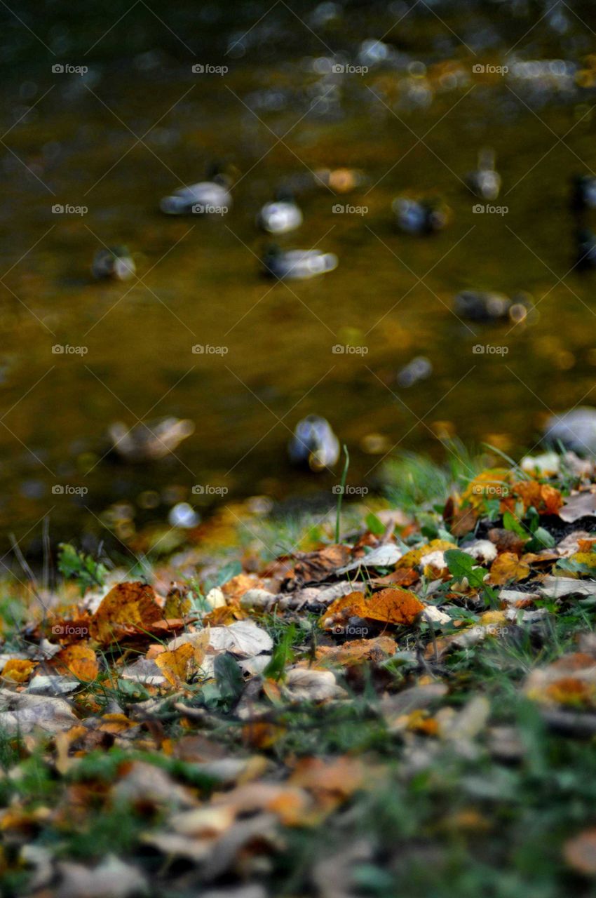
[[[592,894],[593,464],[482,463],[223,510],[153,565],[66,546],[55,588],[23,565],[4,894]]]

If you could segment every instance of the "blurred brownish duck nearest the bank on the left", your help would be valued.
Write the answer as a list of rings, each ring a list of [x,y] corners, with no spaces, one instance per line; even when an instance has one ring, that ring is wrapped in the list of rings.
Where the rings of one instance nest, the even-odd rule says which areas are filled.
[[[108,428],[108,436],[112,450],[125,462],[154,462],[173,452],[194,430],[194,422],[188,418],[170,417],[136,427],[115,421]]]

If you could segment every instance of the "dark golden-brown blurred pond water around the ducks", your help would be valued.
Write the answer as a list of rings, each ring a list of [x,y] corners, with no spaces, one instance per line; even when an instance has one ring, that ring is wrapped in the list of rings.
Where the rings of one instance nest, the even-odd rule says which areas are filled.
[[[589,5],[179,5],[3,13],[3,542],[34,545],[46,515],[55,539],[101,533],[122,500],[140,525],[224,490],[330,489],[287,461],[309,413],[329,418],[358,484],[389,451],[441,457],[446,434],[519,453],[550,409],[595,401],[595,277],[574,269],[569,205],[595,163]],[[503,189],[478,214],[464,179],[484,146]],[[162,215],[213,160],[233,167],[228,214]],[[344,167],[363,173],[355,189],[316,187],[312,172]],[[324,277],[260,272],[255,216],[287,183],[304,224],[277,242],[336,253]],[[450,223],[400,233],[404,191],[436,193]],[[138,280],[92,279],[115,244]],[[466,288],[528,291],[536,312],[462,321]],[[432,374],[401,385],[419,356]],[[168,415],[195,424],[175,457],[104,457],[110,423]]]

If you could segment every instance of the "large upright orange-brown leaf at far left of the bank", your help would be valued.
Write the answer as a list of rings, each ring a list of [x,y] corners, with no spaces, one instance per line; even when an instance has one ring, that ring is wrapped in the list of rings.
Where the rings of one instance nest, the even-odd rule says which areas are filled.
[[[89,623],[89,632],[98,642],[114,642],[130,627],[145,628],[163,617],[153,586],[118,583],[104,597]]]

